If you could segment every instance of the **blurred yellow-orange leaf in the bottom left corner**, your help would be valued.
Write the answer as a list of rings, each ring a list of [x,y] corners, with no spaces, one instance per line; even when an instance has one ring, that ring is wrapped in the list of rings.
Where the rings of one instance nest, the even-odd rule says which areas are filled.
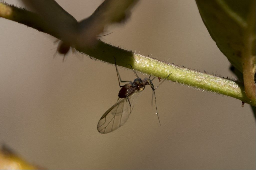
[[[2,147],[0,150],[0,169],[41,169],[31,165],[17,156],[9,148]]]

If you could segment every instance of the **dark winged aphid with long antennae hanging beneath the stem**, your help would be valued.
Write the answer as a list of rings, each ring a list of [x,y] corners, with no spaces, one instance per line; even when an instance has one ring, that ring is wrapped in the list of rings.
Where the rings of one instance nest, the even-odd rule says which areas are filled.
[[[138,77],[136,72],[132,69],[136,76],[136,79],[133,82],[122,81],[119,78],[120,76],[118,74],[116,62],[115,62],[115,68],[116,68],[116,74],[118,77],[119,86],[121,87],[118,94],[118,97],[121,98],[121,100],[119,100],[112,107],[110,107],[109,110],[107,110],[100,118],[97,126],[97,129],[100,133],[112,132],[113,130],[122,126],[127,121],[127,119],[129,118],[132,112],[135,100],[139,92],[143,91],[146,85],[150,85],[150,87],[152,88],[155,96],[155,105],[156,105],[155,90],[170,76],[169,74],[156,88],[154,88],[154,85],[150,79],[151,75],[148,78],[146,77],[142,80],[141,78]],[[121,86],[120,81],[129,82],[129,83]],[[157,107],[156,107],[156,114],[158,117]],[[159,117],[158,117],[158,120],[159,120]],[[159,123],[160,123],[160,120],[159,120]]]

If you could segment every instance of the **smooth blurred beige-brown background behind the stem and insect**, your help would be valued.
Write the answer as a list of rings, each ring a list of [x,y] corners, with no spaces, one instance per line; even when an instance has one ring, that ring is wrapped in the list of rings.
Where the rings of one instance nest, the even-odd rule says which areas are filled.
[[[81,20],[102,1],[57,2]],[[53,59],[55,38],[0,21],[0,142],[27,161],[49,169],[255,169],[255,119],[248,104],[242,108],[231,97],[166,81],[156,90],[162,126],[148,86],[126,124],[100,134],[98,120],[118,98],[114,65],[71,53],[62,63],[59,55]],[[141,1],[112,31],[101,40],[235,77],[194,1]],[[134,79],[131,70],[119,70],[122,79]]]

